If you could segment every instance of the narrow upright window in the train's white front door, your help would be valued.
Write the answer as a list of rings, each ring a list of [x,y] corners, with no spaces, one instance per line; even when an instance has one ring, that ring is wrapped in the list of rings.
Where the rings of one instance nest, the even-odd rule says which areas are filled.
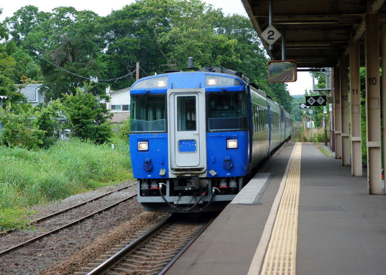
[[[178,131],[196,131],[196,96],[179,96],[177,110]]]

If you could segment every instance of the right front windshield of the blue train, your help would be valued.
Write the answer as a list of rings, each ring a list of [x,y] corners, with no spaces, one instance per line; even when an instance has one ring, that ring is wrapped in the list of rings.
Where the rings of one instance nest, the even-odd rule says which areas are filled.
[[[209,131],[247,130],[245,93],[208,93]]]

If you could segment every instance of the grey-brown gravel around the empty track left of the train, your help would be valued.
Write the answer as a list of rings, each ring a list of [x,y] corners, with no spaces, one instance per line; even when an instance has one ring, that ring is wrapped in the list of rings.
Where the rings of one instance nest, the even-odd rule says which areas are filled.
[[[127,184],[128,183],[126,183],[126,185]],[[124,184],[109,188],[101,188],[97,191],[71,196],[59,203],[34,207],[34,209],[39,209],[40,211],[39,214],[32,219],[44,217],[44,215],[92,199],[99,194],[117,189],[123,185]],[[95,210],[101,208],[101,205],[107,206],[112,204],[120,199],[128,197],[128,195],[135,191],[135,187],[129,188],[129,190],[125,189],[107,196],[103,202],[99,202],[97,204],[90,203],[85,207],[80,207],[78,208],[79,212],[71,210],[65,215],[61,214],[58,218],[47,220],[45,224],[48,223],[48,227],[32,226],[24,230],[16,230],[15,232],[1,236],[0,249],[5,249],[14,244],[23,242],[26,239],[36,237],[36,235],[39,235],[44,231],[48,231],[47,228],[50,228],[50,226],[58,227],[56,223],[59,223],[59,220],[55,219],[69,219],[72,217],[72,220],[76,220],[76,218],[80,218],[81,215],[86,212],[94,212]],[[133,199],[121,203],[106,212],[95,215],[89,220],[66,228],[56,234],[52,234],[36,243],[11,251],[10,253],[0,257],[0,274],[39,273],[48,266],[59,263],[69,255],[79,251],[87,245],[90,245],[97,237],[100,237],[100,235],[108,232],[115,226],[132,219],[141,212],[144,212],[144,209],[139,203],[137,203],[136,198],[134,197]],[[63,224],[63,222],[60,221],[60,224]]]

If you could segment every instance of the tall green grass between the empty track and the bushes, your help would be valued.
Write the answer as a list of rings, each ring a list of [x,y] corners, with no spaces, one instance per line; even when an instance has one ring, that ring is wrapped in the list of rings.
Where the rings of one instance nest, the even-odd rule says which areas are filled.
[[[0,208],[15,209],[132,179],[129,145],[73,139],[46,150],[0,146]]]

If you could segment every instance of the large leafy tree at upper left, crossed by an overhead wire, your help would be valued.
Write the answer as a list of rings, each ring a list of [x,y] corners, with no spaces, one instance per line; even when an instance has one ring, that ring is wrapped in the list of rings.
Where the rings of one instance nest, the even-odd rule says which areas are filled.
[[[41,13],[33,6],[26,6],[7,18],[12,34],[16,38],[19,36],[28,48],[39,52],[50,62],[33,57],[39,62],[44,75],[42,91],[46,98],[57,99],[63,93],[75,94],[76,88],[84,81],[81,76],[106,76],[106,70],[99,61],[105,46],[100,20],[92,11],[59,7],[52,13]],[[32,52],[29,54],[34,55]],[[31,74],[26,76],[31,77],[39,74],[39,68],[30,66],[26,72]],[[105,87],[106,84],[98,83],[92,92],[103,94]]]

